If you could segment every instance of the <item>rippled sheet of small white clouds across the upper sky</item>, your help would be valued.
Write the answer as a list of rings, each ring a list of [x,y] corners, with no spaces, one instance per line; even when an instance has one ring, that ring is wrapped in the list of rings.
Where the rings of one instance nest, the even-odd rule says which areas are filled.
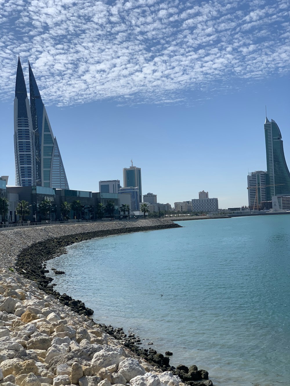
[[[289,73],[288,0],[0,0],[0,12],[2,98],[18,54],[59,105],[186,103],[184,91]]]

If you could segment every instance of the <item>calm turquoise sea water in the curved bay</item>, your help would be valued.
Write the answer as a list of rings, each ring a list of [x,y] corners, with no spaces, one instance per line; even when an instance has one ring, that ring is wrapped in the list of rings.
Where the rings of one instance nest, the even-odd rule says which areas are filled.
[[[290,385],[290,216],[179,224],[68,247],[55,289],[215,385]]]

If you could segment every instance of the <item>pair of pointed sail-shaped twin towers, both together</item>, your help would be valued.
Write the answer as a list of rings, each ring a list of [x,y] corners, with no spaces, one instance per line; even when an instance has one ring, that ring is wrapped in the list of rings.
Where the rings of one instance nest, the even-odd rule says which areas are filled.
[[[29,63],[30,105],[18,58],[14,99],[15,183],[69,189],[56,138]]]

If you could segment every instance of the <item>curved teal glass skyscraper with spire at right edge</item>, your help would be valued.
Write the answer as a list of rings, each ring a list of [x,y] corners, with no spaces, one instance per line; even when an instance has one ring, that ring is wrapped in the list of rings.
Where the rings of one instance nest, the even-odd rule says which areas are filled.
[[[290,173],[285,160],[283,141],[276,122],[266,117],[264,123],[267,173],[269,175],[268,200],[272,196],[290,194]]]

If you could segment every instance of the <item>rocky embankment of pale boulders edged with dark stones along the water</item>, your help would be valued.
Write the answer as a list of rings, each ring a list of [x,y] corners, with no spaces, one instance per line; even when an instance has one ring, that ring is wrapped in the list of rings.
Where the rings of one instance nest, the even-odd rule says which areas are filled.
[[[47,228],[46,237],[43,228]],[[17,230],[10,238],[12,251],[6,245],[6,257],[0,254],[2,266],[7,267],[0,269],[0,383],[3,386],[212,385],[207,371],[196,366],[170,367],[168,357],[152,349],[142,350],[135,344],[135,337],[126,337],[121,328],[97,325],[89,317],[92,310],[82,302],[53,291],[46,281],[43,261],[60,253],[65,245],[96,237],[97,231],[90,230],[91,234],[86,235],[80,232],[83,228],[76,227],[65,235],[51,237],[54,227],[43,228],[38,228],[39,234]],[[12,232],[15,233],[5,234]],[[24,263],[27,271],[20,266]],[[201,381],[196,382],[197,379]]]

